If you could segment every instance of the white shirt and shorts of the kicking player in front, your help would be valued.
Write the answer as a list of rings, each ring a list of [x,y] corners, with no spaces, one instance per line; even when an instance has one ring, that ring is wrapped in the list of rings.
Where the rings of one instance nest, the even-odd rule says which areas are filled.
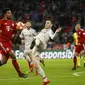
[[[40,55],[40,53],[46,49],[47,42],[49,39],[54,39],[57,36],[57,32],[53,32],[50,28],[49,29],[43,29],[36,37],[35,37],[35,43],[36,45],[32,49],[32,56]]]

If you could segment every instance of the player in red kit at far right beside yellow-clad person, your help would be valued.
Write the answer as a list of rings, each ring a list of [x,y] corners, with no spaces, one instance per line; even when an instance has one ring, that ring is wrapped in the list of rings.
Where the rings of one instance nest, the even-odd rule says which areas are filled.
[[[77,37],[78,37],[78,44],[75,47],[75,53],[74,53],[74,58],[73,58],[74,67],[72,68],[72,70],[76,69],[78,57],[80,57],[80,54],[81,54],[82,50],[84,49],[83,44],[82,44],[83,29],[81,29],[81,26],[80,26],[79,23],[76,24],[75,30],[76,30],[76,34],[77,34]]]

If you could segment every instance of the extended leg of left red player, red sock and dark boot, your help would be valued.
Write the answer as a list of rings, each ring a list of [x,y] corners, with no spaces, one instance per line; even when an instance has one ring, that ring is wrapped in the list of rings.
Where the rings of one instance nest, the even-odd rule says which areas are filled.
[[[9,52],[9,56],[12,58],[12,64],[13,64],[14,68],[16,69],[19,77],[26,78],[27,75],[21,72],[20,67],[18,65],[18,62],[16,60],[16,56],[15,56],[14,52],[10,51]]]

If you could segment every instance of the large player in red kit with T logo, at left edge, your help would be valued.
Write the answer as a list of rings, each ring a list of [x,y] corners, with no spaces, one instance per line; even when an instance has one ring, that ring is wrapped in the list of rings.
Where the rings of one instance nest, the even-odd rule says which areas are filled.
[[[12,12],[10,8],[3,10],[3,19],[0,20],[0,66],[6,64],[9,56],[12,59],[12,65],[16,69],[18,76],[26,78],[27,75],[20,71],[16,56],[12,50],[12,40],[16,31],[16,23],[12,21]]]

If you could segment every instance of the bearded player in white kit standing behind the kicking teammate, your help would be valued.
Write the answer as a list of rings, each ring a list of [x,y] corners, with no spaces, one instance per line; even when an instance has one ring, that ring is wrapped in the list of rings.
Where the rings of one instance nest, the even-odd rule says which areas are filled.
[[[34,30],[32,28],[31,21],[26,22],[25,28],[21,31],[21,33],[19,35],[21,40],[22,41],[24,40],[24,43],[25,43],[24,57],[28,61],[28,65],[29,65],[31,72],[33,71],[34,65],[30,59],[30,53],[31,53],[30,45],[31,45],[32,41],[34,40],[34,36],[36,36],[36,35],[37,35],[37,32],[36,32],[36,30]]]

